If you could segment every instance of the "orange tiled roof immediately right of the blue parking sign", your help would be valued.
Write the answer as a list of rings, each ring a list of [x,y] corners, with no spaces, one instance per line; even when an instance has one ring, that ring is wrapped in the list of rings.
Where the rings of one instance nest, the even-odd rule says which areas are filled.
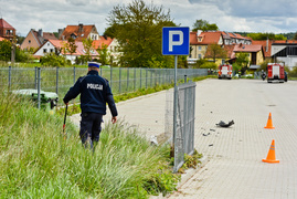
[[[191,45],[208,45],[212,43],[219,43],[220,38],[222,33],[221,32],[202,32],[199,35],[197,35],[197,32],[190,32],[190,44]],[[199,38],[202,38],[201,41],[199,41]]]

